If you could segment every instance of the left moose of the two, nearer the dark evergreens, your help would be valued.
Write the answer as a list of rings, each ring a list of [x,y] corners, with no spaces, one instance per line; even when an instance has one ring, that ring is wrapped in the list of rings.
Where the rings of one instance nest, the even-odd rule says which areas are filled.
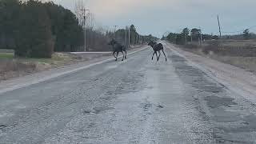
[[[118,61],[118,54],[119,52],[122,53],[122,61],[124,58],[126,58],[127,52],[126,52],[126,47],[122,46],[120,43],[118,43],[116,40],[112,39],[109,42],[109,45],[113,46],[113,56],[115,58],[115,61]],[[125,54],[124,54],[125,52]],[[115,56],[114,54],[117,53],[117,56]]]

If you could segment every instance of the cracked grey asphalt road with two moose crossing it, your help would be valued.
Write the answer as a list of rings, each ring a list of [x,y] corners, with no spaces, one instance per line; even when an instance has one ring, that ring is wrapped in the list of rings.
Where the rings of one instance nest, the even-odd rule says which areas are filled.
[[[255,104],[165,47],[0,94],[0,143],[255,143]]]

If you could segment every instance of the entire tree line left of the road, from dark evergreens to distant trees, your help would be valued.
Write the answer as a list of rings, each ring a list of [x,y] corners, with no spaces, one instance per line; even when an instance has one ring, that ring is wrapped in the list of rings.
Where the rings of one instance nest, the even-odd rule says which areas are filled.
[[[85,34],[82,4],[75,14],[54,2],[38,0],[0,0],[0,49],[12,49],[15,56],[51,58],[54,51],[83,51]],[[90,19],[92,19],[90,14]],[[93,23],[93,22],[88,22]],[[122,44],[128,43],[126,29],[106,31],[86,24],[86,49],[111,50],[107,45],[110,38]],[[115,37],[114,37],[115,35]],[[134,25],[130,26],[130,44],[136,45],[157,39],[152,35],[138,34]],[[127,45],[126,45],[127,46]]]

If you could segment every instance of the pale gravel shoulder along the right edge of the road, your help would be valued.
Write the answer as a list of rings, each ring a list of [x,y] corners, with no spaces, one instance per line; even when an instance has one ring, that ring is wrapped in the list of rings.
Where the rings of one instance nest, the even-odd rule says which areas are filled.
[[[184,56],[189,62],[192,62],[194,66],[198,66],[198,68],[209,74],[211,78],[222,83],[222,85],[225,85],[227,88],[242,95],[246,99],[256,102],[256,75],[254,73],[238,66],[193,54],[167,42],[166,45],[169,46],[173,52]]]

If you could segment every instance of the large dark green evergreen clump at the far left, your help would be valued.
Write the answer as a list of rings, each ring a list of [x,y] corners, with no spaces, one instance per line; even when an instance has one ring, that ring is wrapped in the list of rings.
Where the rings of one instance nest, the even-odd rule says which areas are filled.
[[[1,0],[0,42],[18,57],[51,58],[83,46],[84,34],[76,16],[53,2]]]

